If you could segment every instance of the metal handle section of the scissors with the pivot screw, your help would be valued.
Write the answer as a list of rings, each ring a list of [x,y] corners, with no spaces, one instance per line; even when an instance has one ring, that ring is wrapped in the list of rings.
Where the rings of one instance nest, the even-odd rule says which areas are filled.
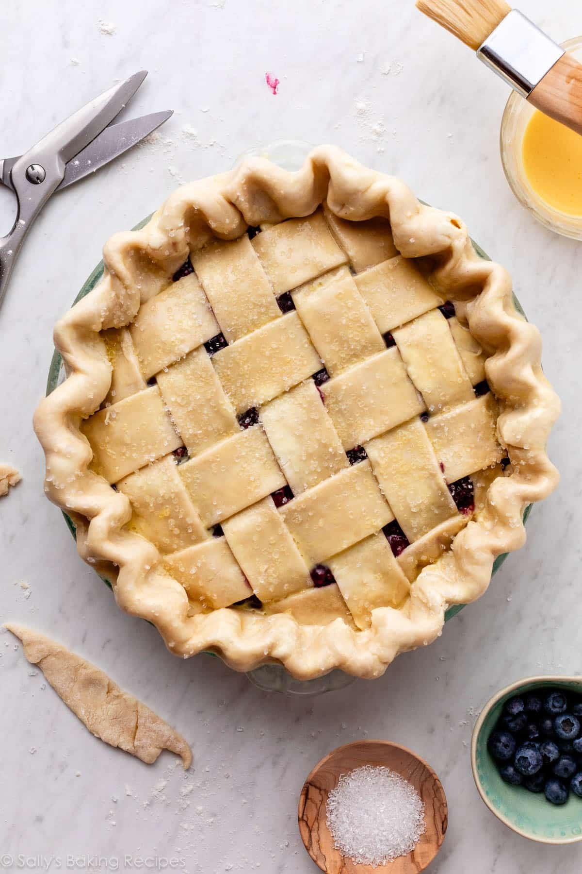
[[[23,156],[10,172],[17,196],[17,218],[10,232],[5,237],[0,237],[0,303],[24,238],[46,201],[58,188],[64,174],[65,164],[58,156],[47,156],[43,164],[31,164],[30,158]]]

